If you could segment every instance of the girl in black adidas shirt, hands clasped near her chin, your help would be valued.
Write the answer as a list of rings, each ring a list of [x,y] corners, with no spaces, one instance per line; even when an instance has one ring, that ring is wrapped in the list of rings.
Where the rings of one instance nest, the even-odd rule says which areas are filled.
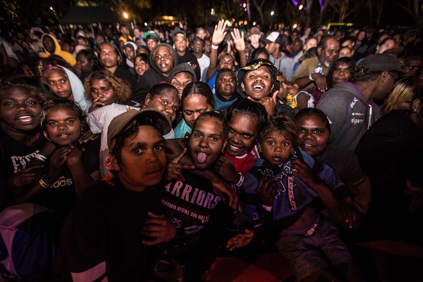
[[[87,130],[85,113],[79,105],[67,100],[52,100],[44,105],[41,116],[44,136],[57,147],[46,160],[49,168],[40,179],[40,188],[47,189],[38,196],[41,205],[49,207],[63,220],[78,196],[100,180],[100,140],[78,142]],[[37,188],[37,187],[35,187]]]

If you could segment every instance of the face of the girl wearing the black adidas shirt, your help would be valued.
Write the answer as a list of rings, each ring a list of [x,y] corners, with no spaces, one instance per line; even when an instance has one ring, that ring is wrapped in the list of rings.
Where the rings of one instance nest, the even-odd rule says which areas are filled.
[[[79,139],[82,123],[69,107],[56,107],[46,114],[46,129],[49,138],[59,147],[68,146]]]

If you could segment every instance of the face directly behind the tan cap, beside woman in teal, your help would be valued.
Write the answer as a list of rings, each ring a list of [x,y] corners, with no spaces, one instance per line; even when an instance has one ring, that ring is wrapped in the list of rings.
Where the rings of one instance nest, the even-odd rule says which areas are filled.
[[[164,91],[161,94],[156,94],[153,98],[151,98],[150,94],[147,94],[144,108],[159,110],[173,122],[176,119],[179,103],[179,95],[176,91]]]

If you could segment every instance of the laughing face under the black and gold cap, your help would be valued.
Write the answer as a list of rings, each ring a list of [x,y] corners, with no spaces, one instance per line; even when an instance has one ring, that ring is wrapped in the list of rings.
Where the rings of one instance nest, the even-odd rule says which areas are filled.
[[[269,96],[273,89],[272,74],[269,68],[262,66],[257,70],[246,73],[244,81],[241,82],[241,87],[245,96],[256,101]]]

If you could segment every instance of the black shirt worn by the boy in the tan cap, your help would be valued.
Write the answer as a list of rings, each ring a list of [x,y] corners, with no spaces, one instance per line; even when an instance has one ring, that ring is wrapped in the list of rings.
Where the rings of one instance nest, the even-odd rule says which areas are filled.
[[[61,233],[57,263],[63,281],[71,281],[71,273],[80,281],[94,273],[108,281],[146,281],[160,244],[142,244],[148,238],[141,231],[148,211],[162,214],[160,189],[128,190],[112,174],[88,188]]]

